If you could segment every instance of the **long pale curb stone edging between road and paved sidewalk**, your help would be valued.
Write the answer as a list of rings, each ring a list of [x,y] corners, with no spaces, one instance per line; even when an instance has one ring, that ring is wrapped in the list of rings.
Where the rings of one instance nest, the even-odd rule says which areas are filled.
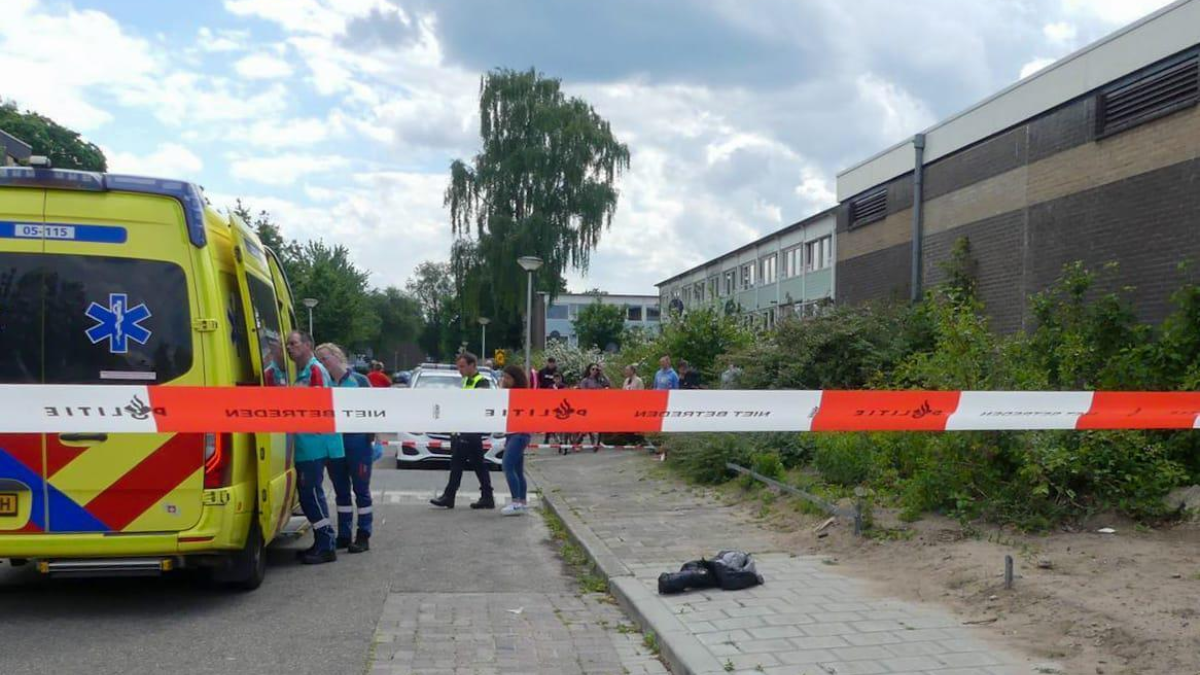
[[[643,632],[653,632],[659,643],[662,659],[671,667],[674,675],[725,675],[726,670],[716,657],[683,622],[646,587],[634,578],[634,573],[620,561],[600,537],[581,518],[575,515],[565,501],[546,490],[548,480],[536,471],[526,470],[541,488],[541,503],[548,508],[566,526],[568,533],[587,552],[588,558],[608,581],[608,591],[634,622]]]

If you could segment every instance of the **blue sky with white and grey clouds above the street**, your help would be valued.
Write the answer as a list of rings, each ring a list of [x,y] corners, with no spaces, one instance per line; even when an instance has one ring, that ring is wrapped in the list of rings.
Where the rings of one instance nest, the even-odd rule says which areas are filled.
[[[241,197],[378,286],[445,259],[479,78],[559,77],[629,144],[575,289],[653,285],[832,205],[838,171],[1164,0],[2,0],[0,96],[114,172]]]

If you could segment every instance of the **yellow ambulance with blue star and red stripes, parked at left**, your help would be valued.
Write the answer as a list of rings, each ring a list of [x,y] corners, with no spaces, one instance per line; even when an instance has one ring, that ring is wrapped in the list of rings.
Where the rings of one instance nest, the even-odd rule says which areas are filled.
[[[278,259],[198,186],[0,167],[0,383],[287,386],[295,324]],[[256,589],[294,500],[283,434],[8,434],[0,411],[17,566]]]

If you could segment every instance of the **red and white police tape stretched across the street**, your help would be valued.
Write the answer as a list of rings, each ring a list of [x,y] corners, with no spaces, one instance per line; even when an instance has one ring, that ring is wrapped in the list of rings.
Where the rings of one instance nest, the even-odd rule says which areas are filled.
[[[1200,429],[1195,392],[0,386],[0,432]]]

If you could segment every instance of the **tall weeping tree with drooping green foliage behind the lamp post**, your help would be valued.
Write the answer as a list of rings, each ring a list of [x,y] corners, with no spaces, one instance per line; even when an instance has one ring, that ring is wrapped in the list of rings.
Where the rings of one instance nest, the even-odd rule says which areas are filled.
[[[617,210],[617,177],[629,168],[629,148],[608,123],[560,84],[535,70],[488,72],[479,95],[482,149],[470,165],[450,165],[445,205],[462,316],[492,318],[490,329],[510,345],[520,344],[524,313],[517,258],[545,261],[536,289],[551,294],[564,288],[566,270],[587,271]]]

